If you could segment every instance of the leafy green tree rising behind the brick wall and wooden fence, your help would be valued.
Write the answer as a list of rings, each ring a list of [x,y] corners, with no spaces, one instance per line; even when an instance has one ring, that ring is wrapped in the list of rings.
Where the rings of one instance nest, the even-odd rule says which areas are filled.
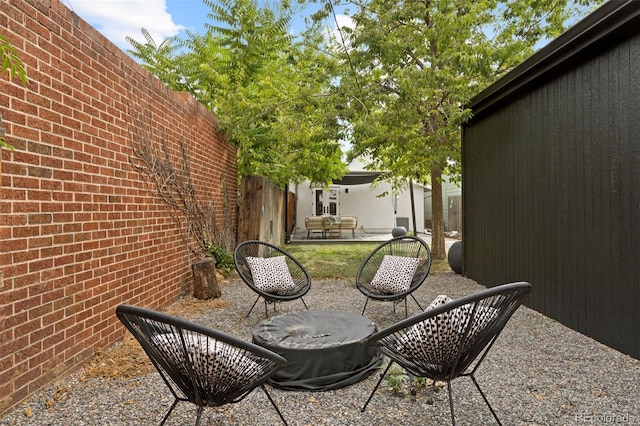
[[[219,118],[238,146],[238,171],[284,186],[309,179],[328,183],[346,172],[331,82],[336,63],[288,32],[292,9],[254,0],[204,0],[206,34],[156,45],[129,38],[142,65],[172,89],[188,91]]]

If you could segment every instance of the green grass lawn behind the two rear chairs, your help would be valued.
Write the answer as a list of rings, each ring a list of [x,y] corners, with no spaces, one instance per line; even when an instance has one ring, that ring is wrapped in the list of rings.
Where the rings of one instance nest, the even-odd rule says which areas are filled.
[[[362,261],[379,243],[290,244],[284,247],[309,272],[311,279],[343,278],[355,281]],[[451,271],[446,260],[435,260],[431,272]]]

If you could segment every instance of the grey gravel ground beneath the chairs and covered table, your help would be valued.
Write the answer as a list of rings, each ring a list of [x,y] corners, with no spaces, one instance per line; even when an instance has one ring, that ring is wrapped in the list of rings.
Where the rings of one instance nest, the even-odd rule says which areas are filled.
[[[426,306],[438,294],[459,297],[482,288],[460,275],[438,273],[427,279],[416,297]],[[193,314],[189,319],[250,340],[251,328],[264,318],[263,305],[245,319],[253,303],[249,289],[239,280],[231,280],[222,286],[222,292],[230,307]],[[310,309],[359,313],[364,298],[352,282],[316,281],[305,301]],[[300,308],[302,304],[295,301],[279,304],[278,312]],[[418,311],[413,301],[409,309],[410,315]],[[371,302],[366,316],[384,327],[402,319],[404,308],[394,313],[389,303]],[[476,377],[503,424],[640,424],[640,361],[525,307],[514,314]],[[366,412],[361,413],[360,407],[378,378],[373,374],[355,385],[328,392],[268,390],[290,425],[450,423],[446,388],[420,390],[413,397],[408,392],[394,394],[383,382]],[[452,386],[457,424],[495,423],[469,379],[455,380]],[[59,398],[61,390],[64,398]],[[77,373],[6,413],[0,425],[157,425],[172,402],[157,374],[97,379]],[[181,403],[166,424],[194,424],[195,413],[195,406]],[[260,389],[237,404],[206,409],[201,422],[280,423]]]

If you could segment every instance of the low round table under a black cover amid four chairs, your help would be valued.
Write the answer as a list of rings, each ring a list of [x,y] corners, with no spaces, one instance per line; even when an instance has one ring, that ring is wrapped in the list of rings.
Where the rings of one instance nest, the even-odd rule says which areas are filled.
[[[287,366],[268,383],[307,391],[338,389],[374,372],[382,357],[361,341],[375,332],[370,319],[336,311],[277,315],[252,329],[254,343],[287,360]]]

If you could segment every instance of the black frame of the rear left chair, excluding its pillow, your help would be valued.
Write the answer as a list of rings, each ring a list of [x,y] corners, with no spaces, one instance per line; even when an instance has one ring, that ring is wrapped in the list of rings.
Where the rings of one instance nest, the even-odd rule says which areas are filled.
[[[295,291],[293,291],[291,294],[278,295],[267,293],[266,291],[263,291],[256,287],[256,285],[254,284],[253,277],[251,275],[251,269],[249,268],[249,264],[247,263],[247,257],[267,258],[274,256],[285,256],[287,266],[289,268],[289,273],[291,274],[291,278],[293,278],[293,281],[295,283]],[[309,309],[303,299],[303,296],[307,294],[307,292],[311,288],[311,277],[309,276],[309,273],[304,268],[304,266],[302,266],[300,262],[298,262],[284,249],[281,249],[280,247],[277,247],[265,241],[247,240],[238,244],[233,252],[233,261],[236,270],[240,275],[240,278],[242,278],[242,281],[244,281],[244,283],[247,284],[247,286],[249,286],[251,290],[258,294],[258,297],[256,297],[256,300],[255,302],[253,302],[253,305],[251,306],[251,309],[249,309],[246,317],[249,317],[249,315],[251,315],[253,308],[255,308],[261,297],[264,299],[265,316],[269,316],[269,312],[267,309],[268,304],[273,304],[275,310],[276,303],[289,302],[296,299],[300,299],[304,307],[306,309]]]

